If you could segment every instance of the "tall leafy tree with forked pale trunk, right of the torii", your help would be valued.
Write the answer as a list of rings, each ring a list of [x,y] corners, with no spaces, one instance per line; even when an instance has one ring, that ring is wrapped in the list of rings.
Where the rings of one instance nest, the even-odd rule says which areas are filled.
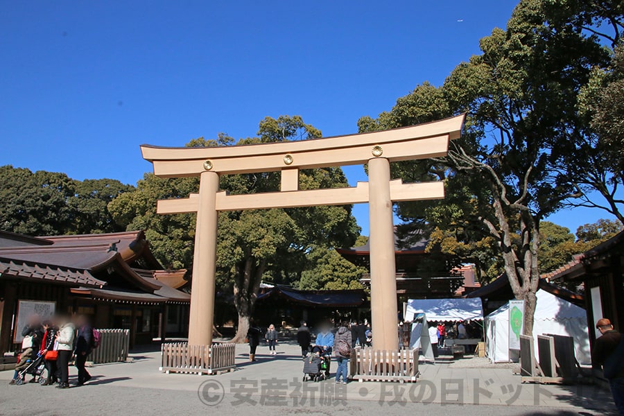
[[[379,130],[467,113],[448,157],[395,168],[404,178],[444,180],[447,200],[399,204],[399,216],[438,227],[441,239],[451,233],[458,242],[491,239],[514,295],[526,302],[528,332],[539,281],[539,223],[582,194],[571,155],[578,157],[591,137],[578,111],[579,92],[593,68],[609,62],[588,28],[608,23],[618,5],[520,1],[507,28],[481,39],[482,53],[459,64],[444,85],[419,85],[392,111],[358,123],[361,131]]]

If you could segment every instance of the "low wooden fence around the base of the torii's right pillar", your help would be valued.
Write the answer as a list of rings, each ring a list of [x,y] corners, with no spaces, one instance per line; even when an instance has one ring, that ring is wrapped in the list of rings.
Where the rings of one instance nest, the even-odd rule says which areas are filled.
[[[414,382],[419,375],[418,349],[356,348],[352,349],[349,365],[354,380]]]

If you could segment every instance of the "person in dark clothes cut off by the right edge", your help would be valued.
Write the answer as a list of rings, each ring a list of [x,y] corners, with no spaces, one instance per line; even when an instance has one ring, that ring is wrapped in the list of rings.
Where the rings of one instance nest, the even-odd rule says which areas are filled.
[[[609,380],[613,401],[620,415],[624,415],[624,336],[613,328],[608,319],[596,322],[601,336],[594,344],[593,356],[603,366],[603,375]]]

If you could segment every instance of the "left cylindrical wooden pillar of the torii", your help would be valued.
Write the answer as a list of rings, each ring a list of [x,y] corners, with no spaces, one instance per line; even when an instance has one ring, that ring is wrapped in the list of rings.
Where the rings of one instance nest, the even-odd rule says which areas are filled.
[[[195,251],[193,252],[189,345],[212,345],[218,220],[216,193],[218,190],[218,173],[202,172],[195,227]]]

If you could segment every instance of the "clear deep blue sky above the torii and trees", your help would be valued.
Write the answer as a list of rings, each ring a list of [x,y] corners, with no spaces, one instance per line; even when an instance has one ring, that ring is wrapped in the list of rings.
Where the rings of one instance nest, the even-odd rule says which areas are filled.
[[[280,114],[354,133],[442,83],[515,3],[0,1],[0,165],[135,184],[151,168],[139,144],[248,137]],[[367,207],[355,214],[367,234]],[[604,216],[553,220],[574,230]]]

